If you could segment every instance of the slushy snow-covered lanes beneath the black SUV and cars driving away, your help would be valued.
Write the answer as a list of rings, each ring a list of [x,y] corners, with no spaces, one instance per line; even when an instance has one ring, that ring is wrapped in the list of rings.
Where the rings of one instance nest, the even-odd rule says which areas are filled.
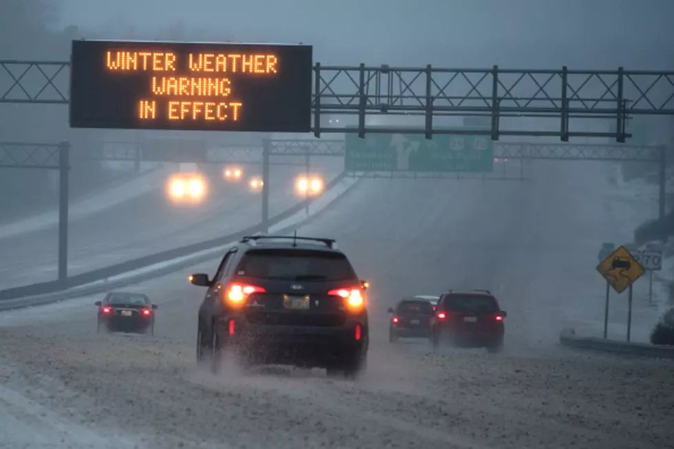
[[[557,344],[576,318],[600,316],[587,296],[601,285],[600,218],[575,190],[586,187],[587,168],[534,168],[523,183],[365,180],[301,229],[335,237],[371,281],[372,342],[360,380],[196,369],[204,290],[186,275],[213,274],[211,261],[127,287],[159,305],[153,337],[97,335],[100,296],[3,314],[0,366],[14,370],[3,384],[73,426],[114,430],[146,448],[671,446],[674,364]],[[387,307],[450,287],[499,296],[508,311],[504,353],[389,344]],[[10,429],[17,441],[22,431]]]

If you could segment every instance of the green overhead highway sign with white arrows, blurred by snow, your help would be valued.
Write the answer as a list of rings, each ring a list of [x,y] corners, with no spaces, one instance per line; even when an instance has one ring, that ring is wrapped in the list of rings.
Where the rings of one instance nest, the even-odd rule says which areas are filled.
[[[346,134],[347,171],[494,171],[494,143],[483,135]]]

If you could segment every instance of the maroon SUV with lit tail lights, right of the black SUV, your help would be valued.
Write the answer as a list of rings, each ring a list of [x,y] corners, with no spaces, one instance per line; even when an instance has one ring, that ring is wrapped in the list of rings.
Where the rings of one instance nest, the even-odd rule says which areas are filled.
[[[488,290],[445,293],[431,319],[433,348],[449,344],[501,351],[505,316],[499,301]]]

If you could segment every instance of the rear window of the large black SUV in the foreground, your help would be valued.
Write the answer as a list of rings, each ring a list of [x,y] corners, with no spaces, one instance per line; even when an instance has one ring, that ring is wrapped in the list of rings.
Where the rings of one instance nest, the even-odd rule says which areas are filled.
[[[252,250],[244,254],[237,276],[292,281],[345,281],[356,278],[340,252],[316,250]]]

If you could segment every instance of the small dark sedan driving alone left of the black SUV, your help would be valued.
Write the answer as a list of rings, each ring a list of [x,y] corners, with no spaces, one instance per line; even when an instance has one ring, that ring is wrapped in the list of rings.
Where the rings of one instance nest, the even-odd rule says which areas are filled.
[[[154,335],[157,305],[144,294],[111,292],[95,304],[98,306],[97,333],[102,326],[109,332],[149,332]]]

